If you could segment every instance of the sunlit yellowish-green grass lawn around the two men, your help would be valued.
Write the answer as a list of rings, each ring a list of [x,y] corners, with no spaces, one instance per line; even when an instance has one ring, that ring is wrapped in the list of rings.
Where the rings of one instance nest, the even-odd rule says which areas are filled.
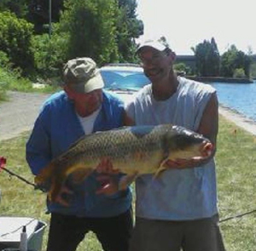
[[[13,140],[2,141],[0,156],[7,157],[7,168],[33,181],[25,160],[27,137],[26,133]],[[256,209],[256,137],[220,117],[216,163],[220,219]],[[49,214],[45,214],[43,192],[34,191],[32,186],[10,177],[4,171],[0,173],[0,189],[0,215],[33,217],[49,222]],[[227,220],[220,225],[227,250],[255,250],[256,213]],[[48,227],[44,233],[43,250],[47,234]],[[102,248],[90,233],[78,248],[78,251],[82,250],[100,251]]]

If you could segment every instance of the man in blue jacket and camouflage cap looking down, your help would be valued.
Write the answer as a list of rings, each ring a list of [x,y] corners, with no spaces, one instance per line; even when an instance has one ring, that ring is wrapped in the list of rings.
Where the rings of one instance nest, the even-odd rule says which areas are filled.
[[[123,125],[124,105],[102,90],[104,83],[94,60],[69,60],[63,78],[64,91],[44,102],[26,144],[26,160],[35,175],[84,134]],[[89,231],[105,251],[128,250],[131,191],[99,194],[102,184],[97,175],[90,174],[79,185],[70,175],[59,201],[47,201],[51,214],[47,251],[75,251]]]

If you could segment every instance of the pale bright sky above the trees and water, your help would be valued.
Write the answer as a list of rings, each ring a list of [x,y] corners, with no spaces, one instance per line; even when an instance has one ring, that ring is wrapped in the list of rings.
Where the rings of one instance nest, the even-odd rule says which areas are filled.
[[[194,54],[191,47],[214,37],[220,54],[232,44],[256,54],[256,0],[137,0],[137,19],[138,43],[165,36],[176,54]]]

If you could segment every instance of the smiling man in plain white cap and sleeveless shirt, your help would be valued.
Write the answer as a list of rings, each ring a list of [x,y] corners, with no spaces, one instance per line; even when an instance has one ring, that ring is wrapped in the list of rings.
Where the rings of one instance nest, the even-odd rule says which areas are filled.
[[[203,134],[216,146],[215,89],[177,77],[173,70],[176,55],[166,43],[147,41],[137,54],[151,84],[127,105],[126,123],[176,124]],[[149,174],[137,178],[131,251],[224,251],[213,155],[169,162],[169,169],[154,180]]]

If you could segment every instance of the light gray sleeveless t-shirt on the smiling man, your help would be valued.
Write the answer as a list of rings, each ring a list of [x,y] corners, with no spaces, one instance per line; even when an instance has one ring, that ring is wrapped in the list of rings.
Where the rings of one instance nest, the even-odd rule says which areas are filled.
[[[151,85],[126,104],[136,125],[172,123],[197,131],[203,111],[215,89],[208,84],[178,77],[177,92],[156,101]],[[203,167],[168,169],[153,180],[144,174],[136,181],[138,217],[158,220],[195,220],[217,214],[215,163]]]

